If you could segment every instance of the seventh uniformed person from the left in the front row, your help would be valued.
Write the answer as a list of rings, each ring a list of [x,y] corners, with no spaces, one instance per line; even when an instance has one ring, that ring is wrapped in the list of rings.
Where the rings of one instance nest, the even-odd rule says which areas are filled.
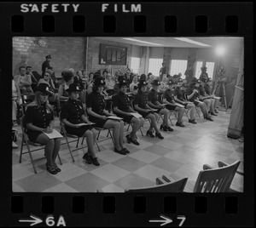
[[[169,81],[168,83],[169,87],[166,89],[166,92],[164,94],[164,97],[163,97],[163,102],[166,105],[166,109],[168,110],[172,110],[172,111],[177,111],[177,123],[176,123],[176,126],[178,127],[185,127],[185,125],[183,124],[182,122],[182,119],[183,119],[183,113],[185,111],[184,109],[184,105],[180,105],[178,103],[175,102],[174,100],[174,89],[176,87],[176,83],[174,83],[173,81]]]

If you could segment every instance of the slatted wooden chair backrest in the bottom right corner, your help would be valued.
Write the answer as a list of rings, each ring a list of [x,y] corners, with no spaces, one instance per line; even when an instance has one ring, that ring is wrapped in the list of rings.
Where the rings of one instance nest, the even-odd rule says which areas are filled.
[[[195,182],[194,192],[227,192],[240,161],[223,168],[201,170]]]

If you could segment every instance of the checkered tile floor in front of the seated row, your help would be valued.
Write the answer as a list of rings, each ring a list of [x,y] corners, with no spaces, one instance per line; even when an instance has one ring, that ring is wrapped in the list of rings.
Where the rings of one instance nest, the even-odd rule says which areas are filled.
[[[34,174],[28,154],[20,155],[21,130],[18,127],[18,149],[13,150],[13,191],[26,192],[124,192],[125,189],[155,185],[155,179],[163,174],[171,175],[174,180],[187,176],[189,181],[185,191],[192,192],[195,180],[207,163],[217,167],[218,161],[228,163],[241,161],[239,170],[243,172],[243,142],[226,137],[230,123],[230,110],[225,112],[220,107],[214,122],[196,119],[197,124],[188,123],[183,117],[185,128],[173,126],[173,132],[162,132],[164,140],[152,139],[137,133],[140,145],[127,145],[131,153],[123,156],[113,152],[112,140],[99,143],[101,151],[95,146],[100,166],[87,164],[83,160],[83,150],[73,152],[75,162],[67,149],[61,145],[61,173],[52,175],[45,170],[45,159],[36,162],[38,174]],[[161,123],[161,121],[160,121]],[[159,125],[160,125],[159,123]],[[172,116],[172,123],[176,120]],[[57,118],[55,126],[59,127]],[[126,127],[125,127],[126,129]],[[148,130],[145,123],[143,134]],[[101,133],[102,138],[107,131]],[[63,139],[64,142],[64,139]],[[71,144],[75,147],[75,143]],[[26,150],[26,147],[25,147]],[[44,156],[44,151],[33,152],[33,157]],[[58,162],[58,161],[57,161]],[[232,188],[243,191],[243,178],[235,176]]]

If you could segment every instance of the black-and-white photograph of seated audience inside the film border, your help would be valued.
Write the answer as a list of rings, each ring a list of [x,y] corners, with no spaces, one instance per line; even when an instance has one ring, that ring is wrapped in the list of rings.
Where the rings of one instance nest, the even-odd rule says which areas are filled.
[[[243,37],[13,37],[13,192],[244,192]]]

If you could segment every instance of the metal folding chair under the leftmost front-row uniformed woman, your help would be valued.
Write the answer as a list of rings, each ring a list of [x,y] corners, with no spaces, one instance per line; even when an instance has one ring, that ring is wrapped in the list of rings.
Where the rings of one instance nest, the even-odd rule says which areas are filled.
[[[27,134],[26,134],[25,115],[24,115],[23,117],[21,117],[21,119],[20,119],[20,127],[21,127],[21,131],[22,131],[22,139],[21,139],[20,161],[19,161],[19,162],[21,163],[21,157],[22,157],[22,155],[28,153],[28,154],[29,154],[29,157],[30,157],[30,160],[31,160],[31,162],[32,162],[32,167],[33,167],[33,169],[34,169],[34,172],[35,172],[35,174],[38,174],[37,168],[36,168],[36,166],[35,166],[35,162],[38,161],[38,160],[41,160],[41,159],[43,159],[43,158],[45,158],[45,157],[38,158],[38,159],[34,160],[34,159],[32,158],[32,152],[33,152],[33,151],[43,150],[44,147],[43,147],[42,144],[33,143],[32,141],[30,141],[30,140],[28,139],[28,136],[27,136]],[[26,152],[23,152],[23,146],[24,146],[24,145],[26,145],[26,148],[27,148],[27,151],[26,151]],[[30,147],[30,145],[35,146],[35,147],[38,147],[38,148],[32,149],[32,148]],[[62,165],[61,157],[60,157],[59,154],[58,154],[58,158],[59,158],[59,160],[60,160],[60,164]]]

